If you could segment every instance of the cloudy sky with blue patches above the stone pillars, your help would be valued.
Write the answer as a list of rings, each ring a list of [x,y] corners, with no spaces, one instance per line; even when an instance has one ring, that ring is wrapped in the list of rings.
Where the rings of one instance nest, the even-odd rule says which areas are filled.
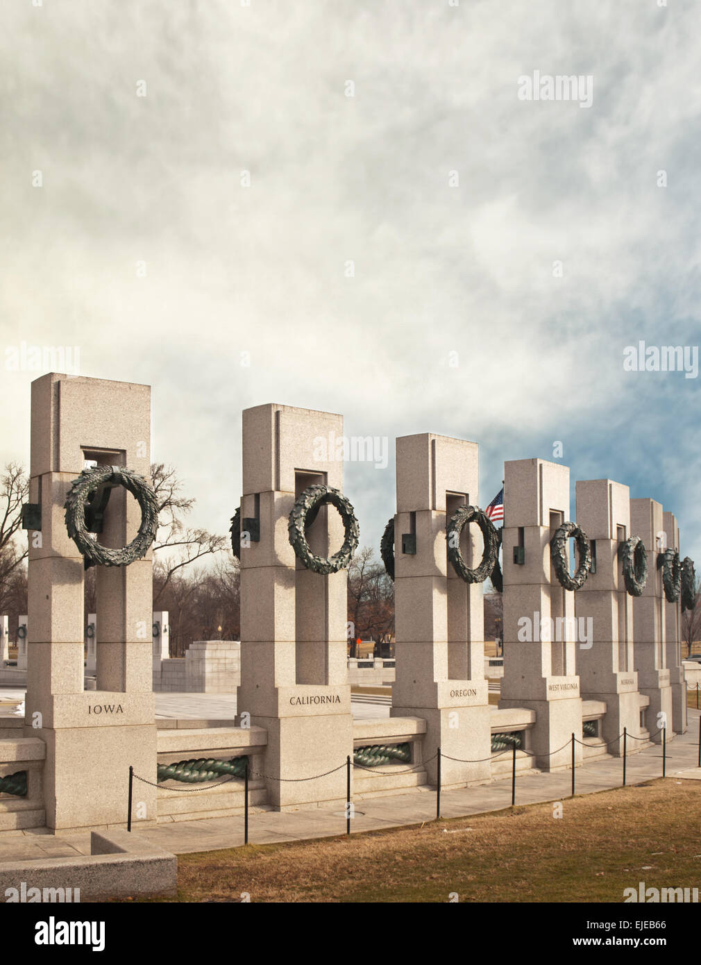
[[[278,401],[389,437],[346,470],[363,543],[394,437],[433,431],[480,444],[482,505],[559,441],[571,515],[576,479],[628,483],[701,560],[698,374],[623,366],[701,341],[701,5],[39,2],[0,7],[3,464],[48,371],[13,352],[78,346],[152,386],[211,530]],[[591,105],[522,99],[534,71]]]

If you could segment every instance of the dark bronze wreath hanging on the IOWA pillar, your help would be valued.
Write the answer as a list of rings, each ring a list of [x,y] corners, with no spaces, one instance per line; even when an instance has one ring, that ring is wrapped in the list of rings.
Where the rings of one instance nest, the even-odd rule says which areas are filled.
[[[141,507],[139,532],[127,546],[112,549],[103,546],[90,537],[86,527],[85,510],[90,496],[101,485],[110,483],[121,485],[134,496]],[[70,483],[64,504],[68,536],[75,542],[85,558],[85,566],[127,566],[141,560],[148,553],[148,547],[156,538],[158,529],[158,500],[148,480],[131,469],[121,466],[94,466],[83,472]]]

